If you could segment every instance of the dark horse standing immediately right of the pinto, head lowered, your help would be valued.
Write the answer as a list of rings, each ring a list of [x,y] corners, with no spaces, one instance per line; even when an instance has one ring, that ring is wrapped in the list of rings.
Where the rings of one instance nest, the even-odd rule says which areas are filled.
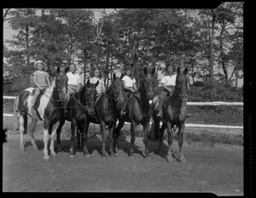
[[[70,146],[70,157],[74,157],[74,140],[75,140],[75,130],[76,126],[79,130],[79,133],[82,135],[82,146],[84,146],[84,141],[87,142],[87,135],[84,131],[84,122],[85,119],[88,119],[88,116],[95,113],[95,102],[96,102],[96,87],[99,82],[96,84],[90,83],[90,80],[84,84],[84,86],[79,90],[79,92],[74,93],[73,97],[69,100],[67,104],[67,110],[69,112],[67,121],[71,122],[71,146]],[[78,136],[80,134],[78,133]],[[87,133],[87,132],[86,132]],[[84,139],[85,138],[85,139]],[[84,139],[84,140],[83,140]],[[78,137],[78,145],[80,149],[80,137]],[[90,156],[87,148],[84,147],[84,156]]]

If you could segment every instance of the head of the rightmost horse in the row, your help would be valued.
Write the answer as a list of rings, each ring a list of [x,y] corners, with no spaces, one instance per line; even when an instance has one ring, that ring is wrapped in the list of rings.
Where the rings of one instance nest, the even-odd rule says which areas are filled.
[[[177,77],[176,77],[176,86],[175,89],[177,90],[179,96],[183,100],[187,100],[189,97],[189,79],[188,79],[188,69],[187,67],[182,72],[181,69],[177,68]]]

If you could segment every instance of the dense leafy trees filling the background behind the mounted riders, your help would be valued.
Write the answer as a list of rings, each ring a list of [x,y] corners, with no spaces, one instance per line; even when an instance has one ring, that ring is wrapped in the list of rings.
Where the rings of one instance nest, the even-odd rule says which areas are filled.
[[[242,3],[222,3],[210,11],[123,8],[112,14],[102,14],[97,23],[92,9],[87,8],[12,8],[5,9],[5,12],[4,20],[8,20],[11,28],[17,31],[17,35],[4,41],[3,45],[7,62],[3,70],[9,71],[4,82],[12,82],[5,85],[5,93],[12,87],[15,90],[28,86],[32,63],[38,59],[51,69],[71,62],[85,65],[86,71],[99,66],[107,80],[113,70],[122,71],[130,63],[135,63],[134,69],[140,78],[145,66],[156,66],[160,71],[163,68],[160,65],[170,61],[179,66],[180,59],[189,67],[194,82],[196,78],[208,78],[210,62],[221,63],[224,73],[229,67],[233,68],[231,76],[236,76],[236,82],[242,77]],[[212,17],[215,17],[214,26],[211,26]],[[212,37],[212,61],[211,27],[214,32],[219,32]],[[6,44],[13,49],[7,48]],[[18,76],[23,80],[16,80]],[[20,83],[25,84],[21,86]],[[218,88],[212,84],[211,92],[203,90],[205,98],[234,99],[224,89],[224,83],[222,85]],[[199,91],[192,88],[193,92]],[[200,94],[195,97],[201,98]]]

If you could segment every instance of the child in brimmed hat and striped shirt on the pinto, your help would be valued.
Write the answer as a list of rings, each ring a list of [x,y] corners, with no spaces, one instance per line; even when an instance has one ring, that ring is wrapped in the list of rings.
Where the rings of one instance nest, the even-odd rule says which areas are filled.
[[[32,98],[32,115],[36,116],[36,107],[34,106],[35,102],[38,98],[38,95],[40,93],[44,93],[45,89],[50,87],[50,82],[49,74],[45,71],[46,64],[43,61],[38,60],[34,65],[38,68],[38,71],[33,73],[33,82],[36,85],[36,91]]]

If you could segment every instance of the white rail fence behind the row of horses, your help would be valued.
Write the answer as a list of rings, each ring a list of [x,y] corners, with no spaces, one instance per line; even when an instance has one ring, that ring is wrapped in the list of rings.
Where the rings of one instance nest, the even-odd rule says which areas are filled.
[[[3,99],[15,99],[15,104],[17,102],[17,97],[15,96],[3,96]],[[235,106],[243,106],[243,102],[222,102],[222,101],[215,101],[215,102],[188,102],[187,105],[235,105]],[[14,105],[14,114],[3,114],[3,116],[14,116],[14,128],[18,128],[18,115],[15,110]],[[130,124],[129,122],[125,122],[125,124]],[[186,123],[186,127],[210,127],[210,128],[227,128],[227,129],[243,129],[243,126],[226,126],[226,125],[208,125],[208,124],[192,124]]]

